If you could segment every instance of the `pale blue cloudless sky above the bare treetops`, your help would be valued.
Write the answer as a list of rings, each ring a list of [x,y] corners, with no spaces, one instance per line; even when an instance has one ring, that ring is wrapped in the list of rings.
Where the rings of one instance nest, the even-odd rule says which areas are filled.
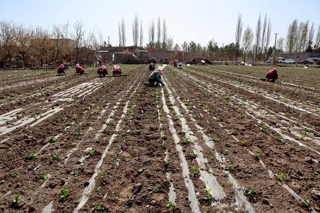
[[[320,21],[316,8],[318,0],[0,0],[0,19],[13,20],[25,25],[51,28],[52,25],[73,22],[82,18],[86,30],[101,30],[104,40],[116,45],[117,24],[123,15],[126,23],[126,45],[132,44],[132,19],[136,13],[143,22],[145,44],[147,29],[158,16],[167,24],[167,34],[174,43],[193,40],[201,45],[214,38],[219,45],[234,42],[235,23],[240,12],[243,31],[249,25],[255,31],[259,13],[271,17],[273,33],[285,38],[289,23],[298,21],[315,23],[315,33]],[[308,8],[308,9],[307,9]],[[314,10],[314,11],[313,11]]]

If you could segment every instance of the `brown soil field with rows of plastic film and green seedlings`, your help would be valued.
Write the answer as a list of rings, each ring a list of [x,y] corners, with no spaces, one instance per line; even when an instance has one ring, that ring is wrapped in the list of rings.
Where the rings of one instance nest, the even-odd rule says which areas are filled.
[[[121,68],[0,71],[1,212],[320,211],[320,70]]]

